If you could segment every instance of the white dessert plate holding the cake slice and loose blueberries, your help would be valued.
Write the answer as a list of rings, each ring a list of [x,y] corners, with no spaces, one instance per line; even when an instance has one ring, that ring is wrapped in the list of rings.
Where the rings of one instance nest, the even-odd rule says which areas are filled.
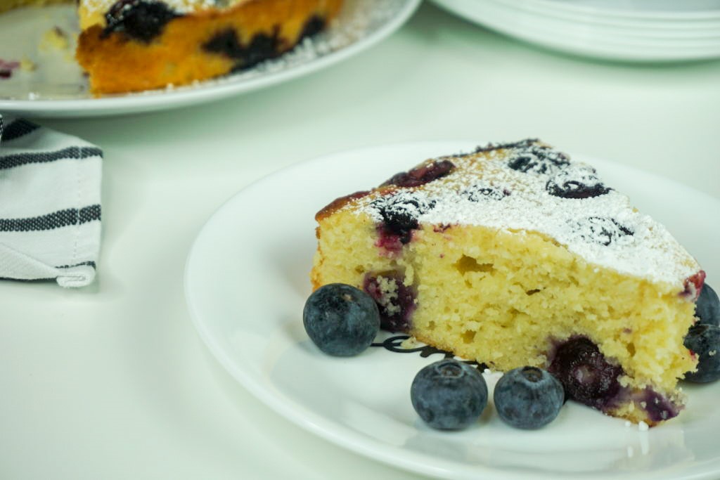
[[[410,383],[441,358],[371,347],[332,358],[302,327],[315,250],[315,212],[420,160],[467,151],[474,142],[423,142],[329,155],[240,191],[207,222],[186,264],[195,327],[222,366],[264,404],[333,443],[379,461],[450,479],[716,479],[720,476],[720,384],[685,386],[688,408],[649,431],[567,404],[542,430],[514,430],[488,407],[456,433],[425,427]],[[720,201],[616,163],[588,160],[606,182],[665,222],[718,278]]]

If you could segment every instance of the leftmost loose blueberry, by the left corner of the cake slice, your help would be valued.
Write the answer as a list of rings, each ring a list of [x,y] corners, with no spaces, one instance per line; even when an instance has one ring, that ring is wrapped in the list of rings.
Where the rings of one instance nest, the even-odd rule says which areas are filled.
[[[320,350],[348,357],[370,346],[380,329],[380,314],[364,291],[346,284],[328,284],[308,297],[302,323]]]

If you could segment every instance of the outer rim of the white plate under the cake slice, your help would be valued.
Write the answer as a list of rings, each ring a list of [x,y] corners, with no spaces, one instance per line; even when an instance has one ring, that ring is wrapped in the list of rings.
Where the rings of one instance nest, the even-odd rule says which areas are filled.
[[[231,195],[226,201],[224,201],[219,207],[217,207],[217,209],[215,209],[215,212],[213,212],[207,219],[207,221],[204,222],[202,227],[200,227],[191,247],[189,248],[189,253],[186,256],[186,262],[184,266],[183,284],[186,307],[188,309],[192,324],[197,330],[199,337],[202,338],[203,343],[210,350],[215,360],[217,360],[222,365],[222,367],[225,368],[225,371],[230,373],[230,376],[232,376],[233,379],[238,381],[240,386],[251,392],[251,394],[253,394],[256,399],[258,399],[261,403],[265,404],[267,407],[270,407],[275,413],[279,414],[281,417],[284,417],[285,420],[288,420],[294,425],[302,427],[303,429],[309,431],[310,433],[313,433],[314,435],[318,435],[324,440],[328,440],[330,443],[339,445],[354,453],[359,453],[366,458],[381,461],[382,463],[394,466],[395,468],[403,468],[417,474],[434,475],[447,479],[471,479],[482,476],[482,474],[493,475],[491,478],[498,478],[503,480],[557,479],[559,472],[551,473],[543,471],[532,472],[531,474],[528,474],[526,471],[500,470],[498,468],[492,468],[491,466],[487,466],[485,464],[472,464],[472,466],[468,464],[462,469],[462,471],[458,471],[458,464],[456,462],[433,458],[432,461],[428,463],[426,461],[423,461],[426,459],[423,459],[423,457],[420,456],[419,453],[387,443],[383,443],[383,449],[379,450],[377,448],[373,448],[372,445],[367,445],[368,440],[366,440],[366,438],[364,438],[356,431],[351,430],[346,425],[336,422],[335,420],[325,418],[322,415],[318,415],[315,412],[307,409],[303,404],[299,402],[292,402],[292,404],[284,403],[284,394],[272,394],[271,391],[267,390],[264,387],[259,377],[258,379],[256,379],[253,374],[249,373],[249,371],[238,368],[235,363],[230,361],[229,356],[217,344],[215,338],[213,338],[213,336],[209,333],[207,325],[205,325],[204,322],[200,320],[200,316],[202,314],[199,313],[197,305],[194,303],[193,294],[191,291],[193,275],[192,272],[195,263],[194,259],[198,255],[197,252],[199,251],[199,245],[202,241],[203,236],[207,235],[209,229],[212,228],[212,224],[220,221],[220,219],[222,219],[222,216],[225,214],[225,211],[228,209],[232,209],[233,204],[235,204],[235,202],[237,201],[240,201],[240,197],[243,196],[243,194],[246,194],[248,190],[261,188],[263,184],[265,184],[267,181],[271,181],[274,177],[291,175],[293,172],[307,168],[307,166],[312,165],[313,163],[323,163],[331,158],[336,158],[338,156],[351,153],[369,153],[391,148],[418,148],[420,146],[424,146],[429,149],[431,147],[436,147],[440,145],[451,145],[452,149],[458,150],[459,148],[474,148],[471,145],[479,144],[482,144],[482,142],[478,142],[477,140],[422,140],[418,142],[397,142],[383,145],[371,145],[360,148],[351,148],[348,150],[338,150],[335,152],[327,153],[325,155],[319,155],[315,158],[303,160],[299,163],[294,163],[287,168],[282,168],[279,171],[274,171],[265,176],[262,176],[261,178],[258,178],[256,181],[253,181],[251,184],[244,186],[242,189],[235,192],[235,194]],[[652,171],[647,171],[642,168],[636,168],[634,166],[627,166],[613,160],[600,159],[592,155],[575,154],[573,156],[580,161],[611,164],[612,166],[621,168],[625,171],[631,171],[636,174],[641,174],[645,178],[662,178],[665,181],[671,182],[680,189],[692,191],[693,194],[703,196],[706,199],[711,199],[712,201],[720,204],[720,199],[716,199],[714,196],[706,194],[703,191],[696,190],[691,186],[680,183],[673,180],[672,178],[667,178]],[[301,412],[302,415],[299,415],[298,412]],[[331,425],[332,428],[328,428],[328,425]],[[400,455],[399,457],[394,455],[393,453],[396,452],[402,452],[402,455]],[[471,469],[472,471],[470,471]],[[716,478],[716,474],[719,473],[720,466],[718,466],[715,470],[712,471],[705,471],[701,472],[700,474],[691,474],[690,476],[673,476],[672,479],[711,480]],[[608,474],[608,472],[600,472],[598,474]],[[590,476],[592,476],[593,478],[599,478],[598,474],[590,474]],[[613,478],[629,479],[637,476],[639,472],[633,472],[631,474],[613,472],[613,474]],[[585,476],[580,473],[575,473],[573,475],[575,476],[575,478],[580,478],[581,476],[585,478]],[[642,476],[642,479],[645,478],[668,479],[671,477],[658,476],[657,472],[655,472],[649,474],[649,476],[647,477]]]

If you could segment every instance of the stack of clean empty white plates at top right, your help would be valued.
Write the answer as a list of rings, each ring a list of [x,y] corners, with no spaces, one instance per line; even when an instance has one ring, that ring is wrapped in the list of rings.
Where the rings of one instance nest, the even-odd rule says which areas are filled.
[[[720,0],[434,0],[472,22],[611,60],[720,58]]]

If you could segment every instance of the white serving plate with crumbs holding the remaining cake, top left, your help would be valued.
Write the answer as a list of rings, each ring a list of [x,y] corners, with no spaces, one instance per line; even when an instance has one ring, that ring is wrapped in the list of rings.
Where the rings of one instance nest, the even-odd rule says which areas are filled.
[[[30,58],[35,71],[14,71],[0,79],[0,112],[30,117],[91,117],[183,107],[240,94],[311,73],[351,57],[395,32],[420,0],[346,0],[328,32],[277,60],[248,71],[192,86],[93,98],[81,69],[72,60],[74,47],[60,50],[43,40],[60,26],[77,30],[74,6],[18,9],[0,15],[0,60]]]

